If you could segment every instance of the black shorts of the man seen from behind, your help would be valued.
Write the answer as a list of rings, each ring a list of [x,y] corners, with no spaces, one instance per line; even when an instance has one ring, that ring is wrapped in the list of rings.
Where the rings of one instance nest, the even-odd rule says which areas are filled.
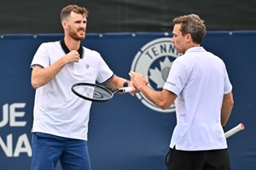
[[[170,149],[166,156],[168,170],[230,170],[228,149],[185,151]]]

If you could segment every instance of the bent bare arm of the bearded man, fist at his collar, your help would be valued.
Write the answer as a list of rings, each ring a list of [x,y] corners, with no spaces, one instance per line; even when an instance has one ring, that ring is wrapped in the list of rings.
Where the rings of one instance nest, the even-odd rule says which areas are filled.
[[[31,77],[32,87],[40,88],[44,86],[44,84],[51,81],[67,63],[79,62],[79,59],[79,53],[73,50],[47,68],[34,67]]]

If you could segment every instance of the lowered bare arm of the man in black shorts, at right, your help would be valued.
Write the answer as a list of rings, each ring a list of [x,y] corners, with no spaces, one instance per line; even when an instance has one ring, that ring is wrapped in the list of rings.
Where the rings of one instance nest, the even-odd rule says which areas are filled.
[[[221,107],[221,125],[224,127],[230,118],[231,111],[233,109],[234,100],[233,94],[224,94],[222,107]]]

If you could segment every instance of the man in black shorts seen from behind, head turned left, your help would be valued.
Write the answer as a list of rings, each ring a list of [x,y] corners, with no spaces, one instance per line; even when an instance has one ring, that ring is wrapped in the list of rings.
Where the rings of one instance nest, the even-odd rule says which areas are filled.
[[[234,101],[224,61],[201,47],[206,26],[197,14],[177,17],[173,23],[172,42],[183,55],[174,60],[163,90],[149,88],[143,75],[133,71],[131,81],[160,108],[175,103],[177,125],[168,170],[230,170],[223,127]]]

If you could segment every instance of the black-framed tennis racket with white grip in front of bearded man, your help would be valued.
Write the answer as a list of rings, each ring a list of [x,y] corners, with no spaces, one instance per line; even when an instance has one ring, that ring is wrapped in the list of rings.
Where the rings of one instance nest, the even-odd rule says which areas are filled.
[[[73,84],[71,90],[82,99],[95,102],[106,102],[112,99],[114,94],[130,93],[132,88],[111,88],[99,84],[79,82]]]

